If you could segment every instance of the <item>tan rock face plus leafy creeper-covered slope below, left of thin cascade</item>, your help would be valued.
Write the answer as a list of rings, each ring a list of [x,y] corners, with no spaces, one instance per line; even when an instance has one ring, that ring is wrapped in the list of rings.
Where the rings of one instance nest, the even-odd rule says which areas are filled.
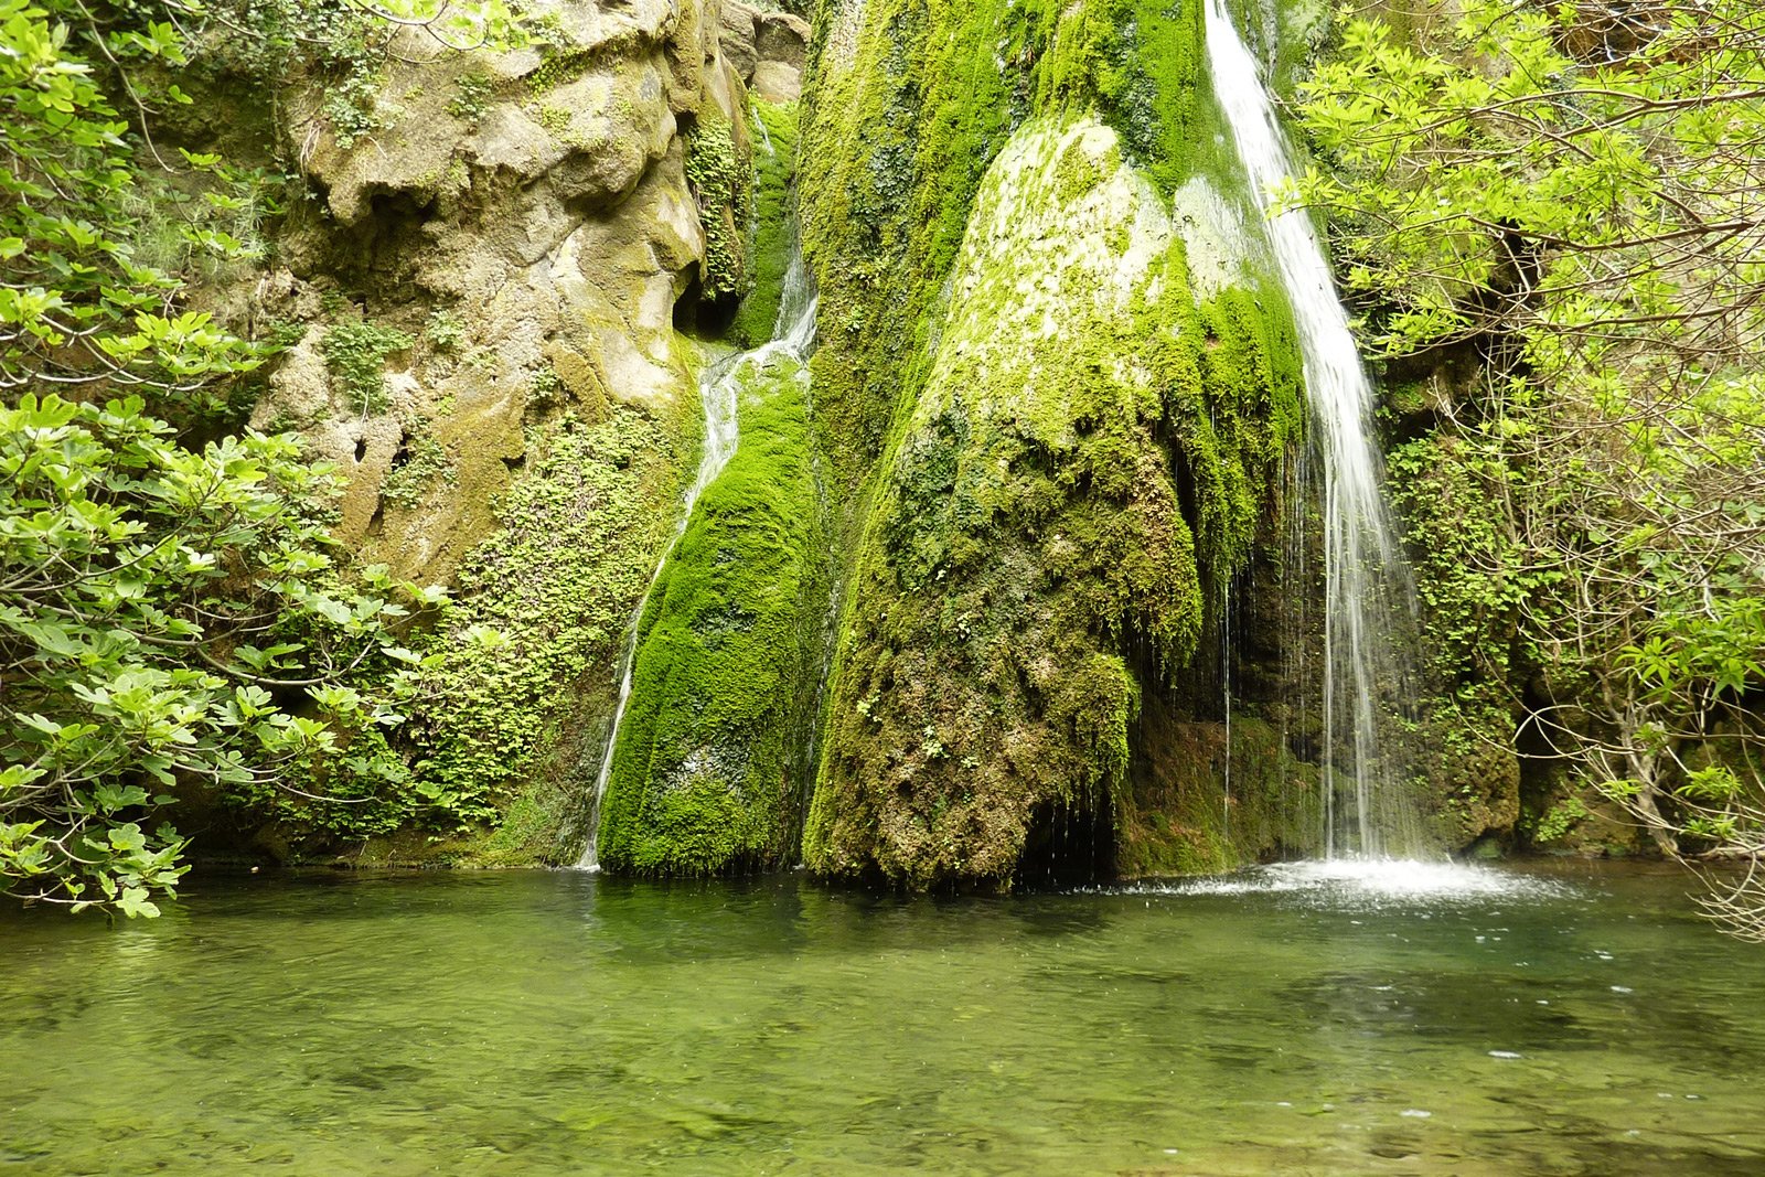
[[[530,48],[401,35],[353,106],[321,76],[277,95],[311,199],[251,314],[304,337],[254,424],[341,466],[364,559],[457,589],[420,704],[383,734],[413,808],[376,822],[406,833],[371,859],[577,852],[699,441],[676,314],[747,281],[748,101],[715,0],[530,7]],[[327,836],[284,822],[265,843]]]

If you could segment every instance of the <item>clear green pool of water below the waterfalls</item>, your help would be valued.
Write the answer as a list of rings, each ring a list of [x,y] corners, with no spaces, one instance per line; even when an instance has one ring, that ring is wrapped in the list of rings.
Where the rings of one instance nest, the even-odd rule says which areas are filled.
[[[1756,1177],[1765,955],[1686,886],[199,881],[0,918],[0,1173]]]

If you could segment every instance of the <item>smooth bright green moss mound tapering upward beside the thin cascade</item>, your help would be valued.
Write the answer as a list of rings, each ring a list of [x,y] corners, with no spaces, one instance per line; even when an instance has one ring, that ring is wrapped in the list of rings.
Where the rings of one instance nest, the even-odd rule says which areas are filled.
[[[639,623],[600,859],[635,873],[789,865],[828,600],[805,381],[743,369],[741,443]]]

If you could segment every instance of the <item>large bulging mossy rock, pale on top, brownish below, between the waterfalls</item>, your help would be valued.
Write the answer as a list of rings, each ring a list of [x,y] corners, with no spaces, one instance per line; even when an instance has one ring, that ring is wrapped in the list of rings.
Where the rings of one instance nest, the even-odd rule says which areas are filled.
[[[1190,662],[1296,422],[1290,339],[1248,295],[1198,309],[1183,256],[1094,118],[988,169],[849,588],[812,868],[1004,881],[1038,813],[1133,808],[1142,690]]]

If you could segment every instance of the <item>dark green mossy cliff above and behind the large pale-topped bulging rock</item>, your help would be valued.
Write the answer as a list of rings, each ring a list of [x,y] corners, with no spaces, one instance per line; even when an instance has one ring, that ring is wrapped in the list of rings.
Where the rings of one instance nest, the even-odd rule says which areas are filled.
[[[1191,132],[1200,12],[1198,0],[819,5],[800,208],[822,288],[815,404],[842,480],[863,484],[904,385],[923,379],[943,279],[1017,127],[1101,111],[1161,180],[1211,150]]]

